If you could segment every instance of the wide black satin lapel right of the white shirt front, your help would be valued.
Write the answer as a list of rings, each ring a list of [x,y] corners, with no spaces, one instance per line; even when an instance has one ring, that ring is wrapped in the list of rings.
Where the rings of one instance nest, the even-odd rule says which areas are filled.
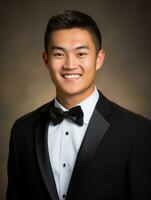
[[[109,125],[108,121],[95,109],[77,156],[66,200],[72,199],[80,191],[80,179],[82,179],[86,166],[88,166],[88,162],[93,157]]]

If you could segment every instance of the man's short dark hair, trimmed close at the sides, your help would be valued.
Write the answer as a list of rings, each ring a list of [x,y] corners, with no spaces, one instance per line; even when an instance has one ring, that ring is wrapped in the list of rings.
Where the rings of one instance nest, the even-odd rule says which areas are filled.
[[[94,40],[96,51],[99,51],[102,48],[101,32],[95,21],[85,13],[76,10],[66,10],[61,14],[52,16],[48,21],[44,36],[46,53],[48,53],[51,34],[57,30],[71,28],[81,28],[89,31]]]

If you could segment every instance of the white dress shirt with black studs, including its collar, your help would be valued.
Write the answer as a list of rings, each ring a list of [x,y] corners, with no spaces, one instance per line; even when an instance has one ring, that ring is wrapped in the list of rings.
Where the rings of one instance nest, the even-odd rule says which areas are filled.
[[[64,119],[56,126],[51,123],[48,126],[49,158],[60,200],[66,198],[77,154],[98,98],[99,93],[95,88],[88,98],[78,104],[84,113],[83,126],[78,126],[70,119]],[[56,99],[55,106],[67,111]]]

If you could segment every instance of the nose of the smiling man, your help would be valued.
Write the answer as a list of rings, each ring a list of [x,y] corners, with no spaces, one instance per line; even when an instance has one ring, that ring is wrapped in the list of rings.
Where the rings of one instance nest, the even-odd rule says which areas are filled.
[[[67,55],[64,68],[70,70],[77,68],[77,60],[73,54]]]

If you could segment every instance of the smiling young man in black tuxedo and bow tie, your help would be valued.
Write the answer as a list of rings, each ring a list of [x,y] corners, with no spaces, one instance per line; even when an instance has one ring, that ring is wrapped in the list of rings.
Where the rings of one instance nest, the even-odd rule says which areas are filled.
[[[12,128],[7,200],[151,199],[151,123],[96,89],[104,57],[90,16],[49,20],[43,60],[56,98]]]

